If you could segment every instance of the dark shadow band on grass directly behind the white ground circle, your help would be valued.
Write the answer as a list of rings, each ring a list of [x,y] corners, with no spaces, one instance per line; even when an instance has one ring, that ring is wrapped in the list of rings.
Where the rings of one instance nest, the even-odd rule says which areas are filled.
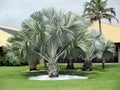
[[[21,75],[28,79],[30,77],[34,76],[40,76],[40,75],[47,75],[48,71],[35,71],[35,72],[22,72]],[[96,71],[79,71],[79,70],[61,70],[59,71],[59,75],[77,75],[77,76],[86,76],[89,79],[96,78],[97,75],[99,75],[99,72]]]

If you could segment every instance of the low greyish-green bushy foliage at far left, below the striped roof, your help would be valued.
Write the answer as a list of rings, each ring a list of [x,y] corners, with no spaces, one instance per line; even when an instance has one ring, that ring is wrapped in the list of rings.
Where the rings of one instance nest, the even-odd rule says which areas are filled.
[[[27,61],[22,58],[18,52],[18,47],[7,45],[4,47],[5,60],[3,65],[6,66],[22,66],[28,65]]]

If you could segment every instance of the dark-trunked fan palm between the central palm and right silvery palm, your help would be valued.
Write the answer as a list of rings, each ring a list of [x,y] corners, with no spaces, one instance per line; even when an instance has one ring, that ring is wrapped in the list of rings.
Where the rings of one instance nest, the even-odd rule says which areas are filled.
[[[64,58],[67,60],[66,69],[74,69],[74,61],[79,58],[79,48],[78,43],[86,42],[87,39],[90,39],[89,35],[86,34],[88,32],[88,22],[84,22],[80,24],[80,32],[76,34],[75,39],[69,44],[69,46],[65,49]],[[81,47],[82,48],[82,47]]]

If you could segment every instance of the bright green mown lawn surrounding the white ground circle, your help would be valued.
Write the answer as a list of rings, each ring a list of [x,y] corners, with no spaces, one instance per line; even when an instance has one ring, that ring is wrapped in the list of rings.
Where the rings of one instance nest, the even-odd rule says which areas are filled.
[[[79,65],[75,65],[79,69]],[[62,69],[65,65],[60,65]],[[95,65],[92,72],[61,71],[60,74],[87,76],[86,80],[30,81],[29,77],[47,72],[24,72],[27,66],[0,67],[0,90],[120,90],[120,64]],[[41,68],[41,66],[38,66]]]

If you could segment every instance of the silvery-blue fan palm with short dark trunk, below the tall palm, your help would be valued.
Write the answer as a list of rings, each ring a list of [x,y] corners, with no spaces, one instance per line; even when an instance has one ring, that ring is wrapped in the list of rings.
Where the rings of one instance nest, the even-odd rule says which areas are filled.
[[[101,39],[103,38],[98,32],[92,30],[87,32],[83,40],[78,39],[77,46],[79,50],[79,57],[84,60],[83,70],[91,71],[92,70],[92,60],[98,56],[100,53]]]

